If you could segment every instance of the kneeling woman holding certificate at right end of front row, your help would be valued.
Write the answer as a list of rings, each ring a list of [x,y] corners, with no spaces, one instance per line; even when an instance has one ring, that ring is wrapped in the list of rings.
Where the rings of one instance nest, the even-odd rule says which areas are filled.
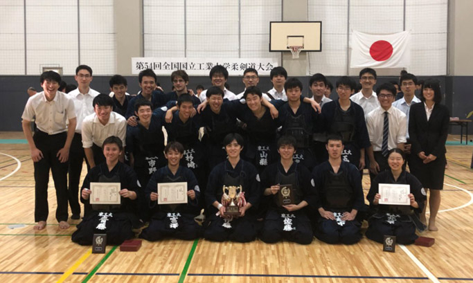
[[[425,226],[419,220],[419,214],[422,212],[427,199],[425,190],[415,176],[402,169],[402,165],[405,163],[402,149],[391,149],[388,154],[388,163],[391,170],[377,174],[366,196],[371,209],[374,210],[374,214],[368,219],[369,226],[366,230],[366,237],[382,243],[384,235],[390,235],[395,236],[399,244],[412,244],[418,238],[416,227],[419,230],[425,229]],[[405,192],[400,192],[397,196],[395,193],[388,196],[382,195],[380,194],[380,187],[385,184],[409,185],[410,192],[407,196]],[[383,192],[385,191],[383,190]],[[402,199],[407,199],[408,204],[404,206],[381,204],[399,203],[399,200]]]

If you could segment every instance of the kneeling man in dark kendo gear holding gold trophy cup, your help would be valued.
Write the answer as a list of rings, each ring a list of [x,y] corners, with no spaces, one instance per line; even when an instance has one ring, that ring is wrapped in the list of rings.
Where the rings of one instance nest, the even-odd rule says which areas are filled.
[[[224,145],[229,158],[208,176],[205,198],[209,219],[204,237],[211,241],[253,241],[257,234],[253,206],[258,206],[260,199],[260,177],[253,164],[240,158],[240,134],[226,135]],[[230,206],[238,207],[238,215],[226,214]]]

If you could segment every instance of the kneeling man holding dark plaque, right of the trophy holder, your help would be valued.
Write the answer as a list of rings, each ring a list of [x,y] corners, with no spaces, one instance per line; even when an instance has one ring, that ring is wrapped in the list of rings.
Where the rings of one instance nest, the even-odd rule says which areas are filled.
[[[315,202],[315,188],[310,182],[310,171],[293,161],[296,139],[283,136],[278,140],[280,161],[269,165],[261,175],[264,195],[271,206],[266,214],[260,239],[276,243],[282,239],[298,244],[310,244],[314,237],[305,207]],[[283,185],[291,185],[290,192]],[[285,191],[281,191],[285,190]],[[294,194],[294,203],[281,206],[279,199]]]

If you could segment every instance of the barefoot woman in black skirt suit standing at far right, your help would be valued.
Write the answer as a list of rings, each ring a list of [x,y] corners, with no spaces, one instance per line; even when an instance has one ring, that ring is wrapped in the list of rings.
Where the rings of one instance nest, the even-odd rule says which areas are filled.
[[[438,80],[426,80],[422,86],[422,103],[411,106],[409,136],[411,137],[411,173],[422,183],[429,197],[429,230],[436,231],[436,216],[440,207],[445,173],[445,141],[447,141],[449,112],[440,104],[442,94]],[[420,219],[426,221],[425,208]]]

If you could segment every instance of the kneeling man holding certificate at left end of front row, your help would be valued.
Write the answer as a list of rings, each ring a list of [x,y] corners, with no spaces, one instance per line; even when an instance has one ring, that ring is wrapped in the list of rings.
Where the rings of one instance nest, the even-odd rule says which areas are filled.
[[[90,203],[92,210],[72,234],[72,241],[84,246],[92,244],[93,234],[107,234],[107,244],[120,245],[141,225],[136,216],[141,187],[132,168],[118,161],[123,155],[121,138],[109,136],[102,148],[106,161],[87,173],[80,194],[80,201]]]

